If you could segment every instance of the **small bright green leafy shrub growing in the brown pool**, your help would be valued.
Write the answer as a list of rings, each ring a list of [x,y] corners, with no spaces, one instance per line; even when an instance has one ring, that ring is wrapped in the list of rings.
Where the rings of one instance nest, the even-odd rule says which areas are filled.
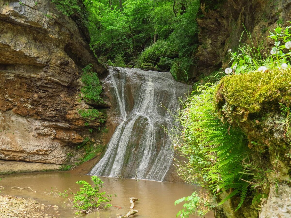
[[[76,182],[81,187],[76,193],[71,193],[74,194],[72,201],[74,208],[77,210],[93,211],[111,207],[110,201],[112,199],[110,198],[112,195],[107,195],[107,197],[105,197],[103,195],[105,195],[106,192],[100,192],[100,188],[102,188],[104,182],[102,182],[98,176],[91,176],[91,179],[94,183],[93,186],[83,180]]]

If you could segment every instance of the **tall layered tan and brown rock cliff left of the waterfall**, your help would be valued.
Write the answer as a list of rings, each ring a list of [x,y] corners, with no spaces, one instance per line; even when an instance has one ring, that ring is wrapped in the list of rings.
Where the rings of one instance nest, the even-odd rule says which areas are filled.
[[[86,38],[48,0],[0,0],[0,173],[58,169],[83,141],[79,73],[107,74]]]

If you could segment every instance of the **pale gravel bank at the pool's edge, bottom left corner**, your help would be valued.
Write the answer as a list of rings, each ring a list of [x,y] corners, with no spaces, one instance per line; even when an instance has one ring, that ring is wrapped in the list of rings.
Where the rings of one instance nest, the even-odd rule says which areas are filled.
[[[57,209],[57,208],[56,208]],[[48,212],[48,210],[50,210]],[[39,201],[0,194],[1,218],[57,218],[58,211],[41,204]]]

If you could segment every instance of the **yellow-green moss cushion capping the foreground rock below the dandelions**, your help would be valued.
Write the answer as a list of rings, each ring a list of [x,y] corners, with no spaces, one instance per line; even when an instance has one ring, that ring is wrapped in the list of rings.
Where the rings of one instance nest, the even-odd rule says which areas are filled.
[[[215,93],[218,110],[237,114],[259,112],[267,102],[286,106],[291,104],[291,69],[254,71],[248,74],[226,76],[221,79]],[[278,105],[279,106],[279,105]]]

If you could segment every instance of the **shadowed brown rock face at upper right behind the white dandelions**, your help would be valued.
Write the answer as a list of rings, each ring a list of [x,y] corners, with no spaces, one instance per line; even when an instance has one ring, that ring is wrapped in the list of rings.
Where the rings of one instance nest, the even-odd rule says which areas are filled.
[[[277,23],[290,26],[290,0],[212,1],[216,5],[213,8],[218,9],[207,8],[209,2],[201,0],[203,16],[197,19],[200,45],[196,53],[196,76],[211,74],[221,67],[230,67],[228,49],[236,51],[243,31],[243,43],[250,43],[245,34],[246,31],[250,32],[254,47],[259,46],[262,53],[268,54],[267,47],[274,46],[272,40],[266,39],[269,31],[276,28]]]

